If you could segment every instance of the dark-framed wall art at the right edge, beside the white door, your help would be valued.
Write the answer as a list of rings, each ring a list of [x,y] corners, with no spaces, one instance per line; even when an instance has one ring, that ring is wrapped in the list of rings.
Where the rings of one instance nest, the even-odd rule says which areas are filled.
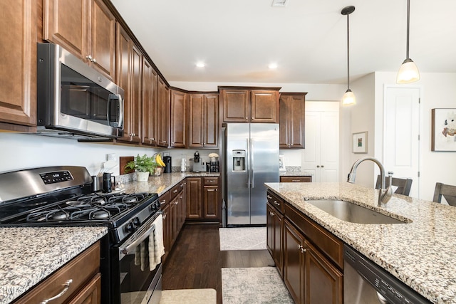
[[[456,151],[456,108],[431,110],[431,151]]]

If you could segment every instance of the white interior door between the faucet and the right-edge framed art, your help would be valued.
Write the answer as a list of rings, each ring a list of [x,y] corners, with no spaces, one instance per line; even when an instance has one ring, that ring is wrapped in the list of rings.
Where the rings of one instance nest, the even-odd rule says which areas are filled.
[[[393,177],[413,179],[410,196],[419,198],[420,89],[385,89],[383,163]]]

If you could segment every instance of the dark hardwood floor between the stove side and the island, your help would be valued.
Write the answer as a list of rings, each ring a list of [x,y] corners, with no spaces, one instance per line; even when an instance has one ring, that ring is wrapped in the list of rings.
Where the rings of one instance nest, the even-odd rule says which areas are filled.
[[[220,251],[219,224],[185,224],[163,265],[162,288],[214,288],[222,304],[222,267],[274,266],[267,250]]]

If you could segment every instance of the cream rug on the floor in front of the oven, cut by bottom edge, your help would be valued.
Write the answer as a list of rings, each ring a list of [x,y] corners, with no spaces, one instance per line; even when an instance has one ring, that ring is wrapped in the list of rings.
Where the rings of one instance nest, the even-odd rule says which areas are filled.
[[[217,304],[217,290],[212,288],[162,290],[160,304],[182,303]]]

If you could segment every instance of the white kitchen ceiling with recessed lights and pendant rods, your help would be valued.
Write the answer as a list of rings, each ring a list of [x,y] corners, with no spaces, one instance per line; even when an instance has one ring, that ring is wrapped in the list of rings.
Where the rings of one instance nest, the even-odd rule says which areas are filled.
[[[352,81],[405,59],[406,0],[111,1],[169,82],[346,83],[349,5]],[[456,73],[456,1],[410,2],[410,58]]]

